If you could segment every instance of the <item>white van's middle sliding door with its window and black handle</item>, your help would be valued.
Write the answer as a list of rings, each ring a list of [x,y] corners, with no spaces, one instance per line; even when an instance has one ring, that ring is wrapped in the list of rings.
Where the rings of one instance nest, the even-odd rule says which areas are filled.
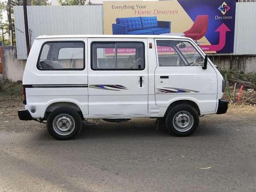
[[[90,38],[89,115],[147,114],[147,39]]]

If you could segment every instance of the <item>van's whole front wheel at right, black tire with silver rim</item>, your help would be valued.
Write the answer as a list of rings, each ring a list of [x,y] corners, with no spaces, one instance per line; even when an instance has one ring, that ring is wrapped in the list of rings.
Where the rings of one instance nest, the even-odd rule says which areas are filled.
[[[175,136],[189,136],[193,134],[199,124],[198,112],[190,105],[178,104],[166,115],[167,130]]]

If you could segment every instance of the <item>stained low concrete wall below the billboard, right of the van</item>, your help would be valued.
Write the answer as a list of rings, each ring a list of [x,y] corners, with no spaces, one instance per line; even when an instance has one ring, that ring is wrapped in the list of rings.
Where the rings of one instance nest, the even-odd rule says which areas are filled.
[[[219,70],[238,70],[243,72],[256,72],[256,56],[254,55],[218,55],[210,56]]]

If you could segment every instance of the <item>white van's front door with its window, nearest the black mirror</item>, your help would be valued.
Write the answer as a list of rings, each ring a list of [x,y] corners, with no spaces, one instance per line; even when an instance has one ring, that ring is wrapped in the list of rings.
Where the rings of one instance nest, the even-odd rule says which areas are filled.
[[[156,104],[168,107],[176,100],[191,100],[198,104],[201,113],[215,112],[217,73],[209,62],[207,69],[202,69],[204,56],[194,42],[155,39],[155,45]]]

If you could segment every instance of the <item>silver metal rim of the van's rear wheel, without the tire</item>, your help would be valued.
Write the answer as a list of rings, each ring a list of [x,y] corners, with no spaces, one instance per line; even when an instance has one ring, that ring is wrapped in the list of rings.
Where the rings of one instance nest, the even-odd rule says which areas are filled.
[[[68,114],[60,114],[54,118],[52,125],[57,134],[69,135],[75,129],[75,120]]]

